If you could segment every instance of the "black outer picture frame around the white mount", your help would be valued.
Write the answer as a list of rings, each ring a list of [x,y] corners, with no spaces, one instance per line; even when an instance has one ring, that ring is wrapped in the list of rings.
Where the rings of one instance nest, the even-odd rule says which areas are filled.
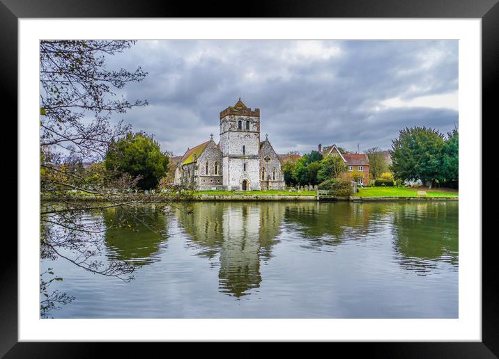
[[[238,5],[240,8],[238,8]],[[498,0],[279,0],[157,2],[142,0],[0,0],[0,64],[3,109],[13,109],[17,118],[17,20],[25,17],[387,17],[387,18],[480,18],[482,19],[482,118],[492,120],[499,79]],[[3,112],[5,113],[5,112]],[[496,113],[494,118],[497,118]],[[479,121],[480,119],[477,119]],[[5,123],[5,122],[4,122]],[[482,123],[483,120],[482,120]],[[13,126],[14,127],[14,126]],[[13,131],[17,133],[17,127]],[[484,143],[485,141],[483,141]],[[482,149],[479,149],[482,150]],[[484,153],[482,151],[482,153]],[[484,161],[482,161],[484,163]],[[17,163],[16,167],[19,163]],[[17,171],[11,171],[17,173]],[[17,175],[16,175],[17,176]],[[17,177],[16,177],[17,178]],[[486,212],[483,211],[485,214]],[[22,215],[22,213],[20,213]],[[483,223],[483,220],[482,220]],[[105,355],[101,346],[112,346],[113,356],[146,355],[130,344],[27,343],[17,340],[17,244],[4,236],[10,261],[0,262],[0,357],[89,358]],[[374,358],[498,358],[498,269],[494,241],[482,241],[482,342],[334,343],[350,353],[364,352]],[[479,239],[474,239],[479,240]],[[144,344],[142,344],[144,345]],[[161,344],[157,344],[161,345]],[[178,344],[167,344],[169,346]],[[249,345],[249,344],[247,344]],[[199,346],[190,346],[192,350]],[[320,348],[316,347],[316,350]],[[173,351],[169,351],[173,353]],[[239,351],[234,351],[237,355]],[[167,355],[167,353],[164,353]],[[201,354],[201,352],[200,352]]]

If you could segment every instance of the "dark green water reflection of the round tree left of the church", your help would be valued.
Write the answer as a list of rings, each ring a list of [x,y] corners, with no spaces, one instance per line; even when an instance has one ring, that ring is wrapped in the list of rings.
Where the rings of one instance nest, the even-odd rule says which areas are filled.
[[[165,241],[167,221],[155,205],[122,209],[114,207],[102,213],[106,225],[105,244],[110,260],[124,260],[144,266],[159,260],[158,251]]]

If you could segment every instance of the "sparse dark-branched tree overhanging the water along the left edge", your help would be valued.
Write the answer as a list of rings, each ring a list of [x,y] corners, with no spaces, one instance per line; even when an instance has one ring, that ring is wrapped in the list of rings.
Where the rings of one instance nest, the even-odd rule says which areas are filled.
[[[144,201],[135,193],[140,177],[126,173],[117,176],[100,164],[109,142],[130,131],[123,122],[113,125],[111,116],[147,104],[141,100],[128,102],[115,93],[127,83],[142,81],[146,72],[140,67],[132,72],[106,68],[106,56],[121,53],[133,44],[107,40],[40,42],[40,193],[43,200],[49,200],[42,202],[40,209],[40,257],[60,257],[86,271],[124,281],[133,278],[133,266],[97,259],[102,253],[105,228],[86,215]],[[93,164],[85,168],[84,162]],[[85,196],[99,201],[81,200]],[[54,280],[62,279],[52,269],[41,273],[43,316],[72,301],[71,296],[49,289]]]

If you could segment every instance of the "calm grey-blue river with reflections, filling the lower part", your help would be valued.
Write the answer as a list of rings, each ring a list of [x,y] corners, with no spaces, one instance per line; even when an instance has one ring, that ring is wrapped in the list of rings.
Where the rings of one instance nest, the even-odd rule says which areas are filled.
[[[118,218],[130,225],[115,228]],[[109,208],[100,260],[42,260],[54,318],[457,318],[458,202],[194,202]],[[67,253],[70,255],[70,253]]]

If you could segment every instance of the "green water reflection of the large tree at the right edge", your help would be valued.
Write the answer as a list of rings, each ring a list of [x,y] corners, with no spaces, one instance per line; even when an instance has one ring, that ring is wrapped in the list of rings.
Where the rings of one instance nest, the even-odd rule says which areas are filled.
[[[458,203],[417,202],[394,207],[394,250],[404,269],[425,275],[438,262],[459,261]]]

